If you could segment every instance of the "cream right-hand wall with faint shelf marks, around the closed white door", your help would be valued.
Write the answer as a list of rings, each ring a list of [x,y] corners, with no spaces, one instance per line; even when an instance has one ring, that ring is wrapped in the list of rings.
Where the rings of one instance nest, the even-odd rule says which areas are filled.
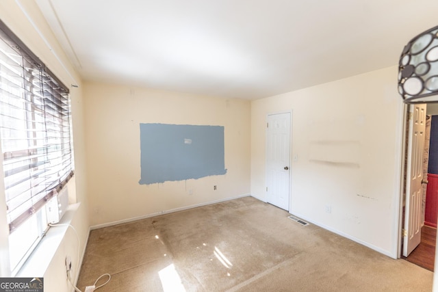
[[[253,101],[251,194],[266,200],[266,115],[292,110],[290,212],[396,257],[403,112],[396,73],[385,68]]]

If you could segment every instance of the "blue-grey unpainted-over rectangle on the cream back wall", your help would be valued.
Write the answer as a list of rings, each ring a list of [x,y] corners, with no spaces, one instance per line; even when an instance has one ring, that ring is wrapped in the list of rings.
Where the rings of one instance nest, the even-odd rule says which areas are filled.
[[[223,175],[224,127],[140,124],[140,185]]]

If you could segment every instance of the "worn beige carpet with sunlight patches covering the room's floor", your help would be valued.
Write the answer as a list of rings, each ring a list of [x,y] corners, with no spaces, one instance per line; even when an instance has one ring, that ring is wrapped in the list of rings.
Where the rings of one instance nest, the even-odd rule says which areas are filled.
[[[431,291],[433,273],[245,197],[92,230],[78,287],[104,291]]]

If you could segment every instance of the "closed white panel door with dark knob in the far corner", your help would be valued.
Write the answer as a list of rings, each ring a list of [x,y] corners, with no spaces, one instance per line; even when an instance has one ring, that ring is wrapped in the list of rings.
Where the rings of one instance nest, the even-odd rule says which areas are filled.
[[[269,115],[266,124],[266,191],[270,204],[289,211],[290,118]]]

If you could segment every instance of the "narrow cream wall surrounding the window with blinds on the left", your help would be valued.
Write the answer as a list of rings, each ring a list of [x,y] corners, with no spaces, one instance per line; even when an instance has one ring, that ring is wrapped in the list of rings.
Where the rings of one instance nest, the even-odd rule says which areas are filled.
[[[79,252],[81,258],[85,250],[90,226],[86,191],[81,80],[66,55],[64,55],[57,40],[55,40],[35,1],[0,1],[0,18],[70,88],[75,148],[75,179],[70,181],[68,191],[70,202],[81,203],[72,220],[72,225],[79,235],[79,247],[77,246],[75,233],[68,230],[49,267],[44,271],[44,291],[70,291],[72,288],[66,280],[65,258],[67,255],[70,256],[73,261],[73,268],[76,269],[79,265],[76,255]],[[79,88],[72,88],[70,87],[71,84],[79,85]],[[73,275],[73,277],[76,276]]]

